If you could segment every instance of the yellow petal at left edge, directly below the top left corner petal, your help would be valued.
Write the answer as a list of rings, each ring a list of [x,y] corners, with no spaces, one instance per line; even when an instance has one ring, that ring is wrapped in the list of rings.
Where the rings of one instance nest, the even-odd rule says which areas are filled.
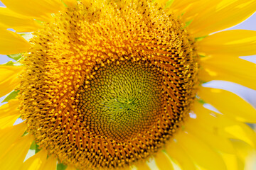
[[[0,28],[13,28],[18,33],[37,30],[40,27],[32,18],[14,13],[9,8],[0,7]]]

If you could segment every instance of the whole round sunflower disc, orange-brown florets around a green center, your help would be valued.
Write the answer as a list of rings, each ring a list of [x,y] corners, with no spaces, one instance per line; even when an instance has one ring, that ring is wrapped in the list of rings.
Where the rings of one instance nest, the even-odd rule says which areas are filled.
[[[183,23],[149,1],[78,1],[33,33],[21,118],[77,169],[144,162],[188,116],[198,55]]]

